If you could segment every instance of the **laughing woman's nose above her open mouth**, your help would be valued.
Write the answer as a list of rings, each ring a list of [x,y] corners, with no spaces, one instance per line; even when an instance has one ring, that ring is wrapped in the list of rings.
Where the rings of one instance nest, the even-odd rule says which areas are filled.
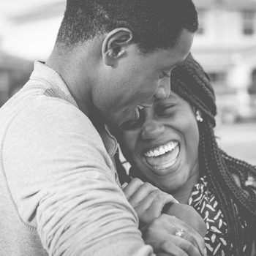
[[[154,119],[148,120],[143,124],[141,138],[143,138],[143,140],[153,140],[164,132],[164,130],[164,125],[159,121]]]

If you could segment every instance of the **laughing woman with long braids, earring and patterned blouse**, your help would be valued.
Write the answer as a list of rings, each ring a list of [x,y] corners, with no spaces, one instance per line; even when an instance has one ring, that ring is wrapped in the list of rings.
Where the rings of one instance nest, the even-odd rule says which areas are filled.
[[[217,145],[214,90],[191,55],[173,69],[170,86],[168,99],[116,132],[129,176],[193,206],[206,222],[208,255],[252,255],[256,169]]]

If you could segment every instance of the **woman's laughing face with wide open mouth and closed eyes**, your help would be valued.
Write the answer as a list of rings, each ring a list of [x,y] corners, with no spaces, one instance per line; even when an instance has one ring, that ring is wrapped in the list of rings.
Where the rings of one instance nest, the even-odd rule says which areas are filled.
[[[198,167],[199,131],[192,107],[177,94],[141,110],[140,119],[121,131],[127,160],[162,190],[181,189]]]

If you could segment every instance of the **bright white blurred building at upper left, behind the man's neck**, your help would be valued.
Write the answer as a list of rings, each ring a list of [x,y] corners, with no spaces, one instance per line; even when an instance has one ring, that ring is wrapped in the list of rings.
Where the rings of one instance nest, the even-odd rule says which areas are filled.
[[[0,48],[12,56],[45,61],[53,49],[65,4],[65,0],[0,1]]]

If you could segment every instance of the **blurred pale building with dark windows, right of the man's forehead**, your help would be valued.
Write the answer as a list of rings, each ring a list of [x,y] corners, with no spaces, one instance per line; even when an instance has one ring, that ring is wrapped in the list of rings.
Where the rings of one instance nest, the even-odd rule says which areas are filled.
[[[256,1],[194,0],[200,28],[192,53],[203,64],[226,118],[255,114]],[[232,121],[230,119],[230,121]]]

